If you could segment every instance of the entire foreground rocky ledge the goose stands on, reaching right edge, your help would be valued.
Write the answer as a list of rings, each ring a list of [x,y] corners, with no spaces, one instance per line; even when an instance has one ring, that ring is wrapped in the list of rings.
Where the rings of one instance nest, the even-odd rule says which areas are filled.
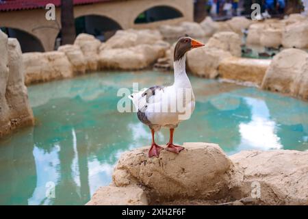
[[[149,147],[124,153],[112,183],[87,205],[307,205],[308,151],[242,151],[184,143],[175,155],[147,157]]]

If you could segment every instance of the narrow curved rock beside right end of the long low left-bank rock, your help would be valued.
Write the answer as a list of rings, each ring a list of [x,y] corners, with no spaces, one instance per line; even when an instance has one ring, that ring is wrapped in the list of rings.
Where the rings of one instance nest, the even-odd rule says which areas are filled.
[[[59,47],[57,51],[64,52],[68,57],[68,60],[73,65],[74,75],[86,73],[87,62],[79,46],[67,44]]]

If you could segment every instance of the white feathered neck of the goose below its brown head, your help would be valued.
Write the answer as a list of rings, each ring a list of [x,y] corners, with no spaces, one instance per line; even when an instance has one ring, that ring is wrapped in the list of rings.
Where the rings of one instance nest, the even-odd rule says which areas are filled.
[[[186,74],[185,62],[186,62],[186,55],[183,55],[183,57],[180,60],[173,62],[173,66],[175,68],[174,86],[177,86],[179,88],[191,88],[192,87],[190,85],[190,79],[188,79],[188,76]]]

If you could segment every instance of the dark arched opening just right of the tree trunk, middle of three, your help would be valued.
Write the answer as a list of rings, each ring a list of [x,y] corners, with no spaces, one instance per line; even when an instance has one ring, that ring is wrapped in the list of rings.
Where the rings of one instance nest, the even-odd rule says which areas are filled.
[[[103,14],[84,14],[75,17],[76,34],[86,33],[105,41],[115,34],[121,25]]]

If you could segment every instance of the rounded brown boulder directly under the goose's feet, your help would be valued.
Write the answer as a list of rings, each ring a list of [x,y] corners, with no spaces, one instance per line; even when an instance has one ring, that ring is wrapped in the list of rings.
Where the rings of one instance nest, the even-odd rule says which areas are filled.
[[[166,201],[224,196],[232,164],[220,147],[208,143],[183,146],[185,150],[179,155],[162,151],[158,159],[148,157],[149,147],[124,153],[115,167],[114,184],[123,186],[118,184],[118,170],[125,170],[120,177],[125,176],[129,185],[143,185],[151,198],[156,196]]]

